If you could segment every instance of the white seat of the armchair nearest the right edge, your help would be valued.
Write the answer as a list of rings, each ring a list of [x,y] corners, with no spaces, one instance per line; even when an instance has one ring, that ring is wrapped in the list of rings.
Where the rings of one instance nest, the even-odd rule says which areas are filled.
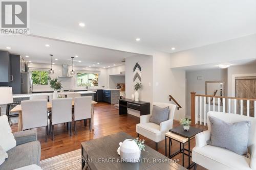
[[[211,145],[193,148],[192,161],[209,170],[251,170],[249,158]]]

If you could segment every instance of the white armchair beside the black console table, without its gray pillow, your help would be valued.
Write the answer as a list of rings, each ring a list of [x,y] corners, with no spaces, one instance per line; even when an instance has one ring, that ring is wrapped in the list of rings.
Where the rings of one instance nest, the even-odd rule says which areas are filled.
[[[169,103],[153,103],[153,105],[159,106],[161,108],[169,106],[169,119],[165,122],[161,122],[160,125],[150,122],[151,114],[140,116],[140,123],[136,125],[136,133],[145,136],[156,142],[156,150],[158,149],[158,142],[164,140],[165,133],[169,129],[173,128],[173,119],[176,109],[176,105]],[[152,113],[152,111],[151,111]]]

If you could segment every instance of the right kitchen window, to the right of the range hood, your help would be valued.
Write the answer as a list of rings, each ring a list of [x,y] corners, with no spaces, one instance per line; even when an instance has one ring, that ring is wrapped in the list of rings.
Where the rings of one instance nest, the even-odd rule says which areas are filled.
[[[87,72],[77,72],[76,81],[77,86],[86,87],[86,86],[98,86],[99,75],[94,73]]]

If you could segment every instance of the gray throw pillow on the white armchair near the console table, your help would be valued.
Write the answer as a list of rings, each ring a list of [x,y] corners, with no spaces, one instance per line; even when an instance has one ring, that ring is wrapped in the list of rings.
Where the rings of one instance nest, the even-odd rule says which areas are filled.
[[[169,118],[169,106],[161,108],[153,105],[152,116],[150,122],[160,125],[161,122],[168,120]]]

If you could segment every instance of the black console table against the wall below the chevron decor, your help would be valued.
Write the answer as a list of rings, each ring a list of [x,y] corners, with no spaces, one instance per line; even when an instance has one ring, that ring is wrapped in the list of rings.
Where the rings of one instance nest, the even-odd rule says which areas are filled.
[[[127,108],[140,111],[140,115],[150,114],[149,102],[135,102],[131,99],[119,99],[119,114],[127,114]]]

